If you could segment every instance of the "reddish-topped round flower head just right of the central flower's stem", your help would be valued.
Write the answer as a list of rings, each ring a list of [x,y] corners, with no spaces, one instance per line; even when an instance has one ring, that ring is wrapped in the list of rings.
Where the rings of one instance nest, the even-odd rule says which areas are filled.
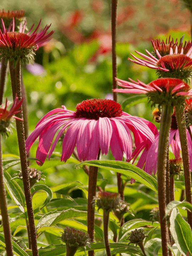
[[[121,198],[118,193],[110,193],[105,191],[99,191],[94,197],[94,201],[99,209],[103,209],[109,213],[112,210],[116,210]]]

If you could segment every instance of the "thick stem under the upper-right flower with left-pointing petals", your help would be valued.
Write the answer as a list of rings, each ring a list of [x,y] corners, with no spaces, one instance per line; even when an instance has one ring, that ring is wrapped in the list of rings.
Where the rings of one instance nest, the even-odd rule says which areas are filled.
[[[162,255],[169,256],[168,248],[168,226],[167,220],[164,218],[166,209],[166,165],[167,165],[167,149],[169,146],[169,130],[171,126],[171,105],[162,106],[161,124],[159,132],[159,146],[158,146],[158,199],[159,199],[159,213],[161,225],[161,242]]]

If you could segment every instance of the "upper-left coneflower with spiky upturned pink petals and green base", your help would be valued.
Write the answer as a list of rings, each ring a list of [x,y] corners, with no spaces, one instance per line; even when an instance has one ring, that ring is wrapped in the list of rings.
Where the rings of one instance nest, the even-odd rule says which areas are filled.
[[[11,59],[15,62],[17,59],[20,59],[23,62],[23,59],[33,59],[34,53],[41,47],[44,43],[47,42],[48,38],[53,34],[54,31],[51,31],[47,34],[49,26],[42,31],[38,31],[41,24],[41,20],[36,27],[36,29],[31,33],[34,24],[31,29],[25,33],[25,26],[20,24],[19,32],[15,32],[15,20],[13,18],[8,31],[5,28],[4,22],[2,21],[3,33],[0,30],[0,58],[5,57],[6,60]],[[11,31],[12,26],[12,31]]]

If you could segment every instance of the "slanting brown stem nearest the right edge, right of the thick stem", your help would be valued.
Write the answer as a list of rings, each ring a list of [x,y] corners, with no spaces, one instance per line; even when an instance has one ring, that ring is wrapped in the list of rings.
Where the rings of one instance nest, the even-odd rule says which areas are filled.
[[[175,106],[175,114],[177,118],[177,126],[179,131],[180,142],[181,142],[183,170],[184,170],[184,178],[185,178],[186,201],[189,203],[192,203],[190,162],[189,162],[189,153],[188,153],[188,145],[187,145],[186,126],[185,126],[185,123],[183,123],[183,119],[184,119],[183,108]],[[188,210],[187,210],[187,221],[192,228],[192,213]]]

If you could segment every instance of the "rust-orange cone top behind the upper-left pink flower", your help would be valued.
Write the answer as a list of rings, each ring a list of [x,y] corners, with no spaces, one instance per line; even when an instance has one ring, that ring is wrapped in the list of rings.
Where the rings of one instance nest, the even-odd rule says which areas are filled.
[[[10,22],[12,21],[12,19],[14,18],[15,20],[15,30],[19,29],[19,26],[21,23],[25,22],[25,11],[20,10],[20,11],[10,11],[8,10],[7,12],[4,11],[4,9],[2,9],[2,11],[0,10],[0,18],[3,19],[4,21],[4,25],[5,28],[9,28],[10,26]],[[3,29],[3,26],[0,23],[0,29]]]

